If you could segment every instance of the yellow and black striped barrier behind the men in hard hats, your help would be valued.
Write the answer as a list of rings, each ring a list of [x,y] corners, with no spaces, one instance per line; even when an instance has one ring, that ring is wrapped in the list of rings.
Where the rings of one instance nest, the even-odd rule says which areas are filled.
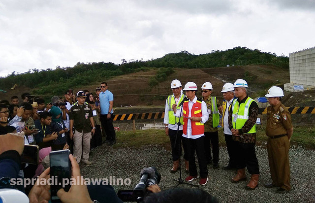
[[[291,114],[315,114],[315,106],[288,107],[288,110]],[[259,108],[258,113],[267,114],[267,108]],[[131,113],[131,114],[115,115],[114,121],[162,119],[162,118],[164,118],[164,112]]]

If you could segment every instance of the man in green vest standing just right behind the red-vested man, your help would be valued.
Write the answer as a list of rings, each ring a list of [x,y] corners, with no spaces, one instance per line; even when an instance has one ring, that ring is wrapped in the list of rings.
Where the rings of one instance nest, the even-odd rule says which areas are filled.
[[[218,125],[220,120],[219,115],[219,100],[217,97],[211,97],[212,84],[210,82],[205,82],[201,86],[202,100],[207,104],[207,110],[209,114],[209,119],[205,123],[205,154],[207,159],[207,164],[213,163],[213,169],[219,168],[219,134]],[[222,112],[220,112],[221,114]],[[212,144],[212,156],[211,157],[211,145]]]

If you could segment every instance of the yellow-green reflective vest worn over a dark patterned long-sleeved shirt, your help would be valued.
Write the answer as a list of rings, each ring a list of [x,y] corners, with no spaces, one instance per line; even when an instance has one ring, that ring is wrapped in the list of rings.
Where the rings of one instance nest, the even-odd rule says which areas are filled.
[[[252,98],[248,97],[244,103],[239,104],[238,100],[234,100],[232,104],[232,123],[234,129],[241,129],[245,122],[249,118],[249,108],[251,103],[255,102]],[[235,122],[236,117],[236,122]],[[256,133],[256,124],[252,127],[252,129],[244,134]]]

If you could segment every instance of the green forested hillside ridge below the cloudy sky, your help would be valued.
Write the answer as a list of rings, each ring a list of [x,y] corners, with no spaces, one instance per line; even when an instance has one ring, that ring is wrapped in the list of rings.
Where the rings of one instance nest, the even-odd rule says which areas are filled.
[[[169,53],[165,56],[148,60],[132,61],[127,63],[122,59],[122,64],[93,62],[80,63],[74,67],[57,67],[56,69],[29,69],[24,73],[12,72],[7,77],[0,78],[1,89],[10,89],[15,84],[33,89],[32,94],[45,95],[62,94],[64,89],[95,84],[107,80],[113,76],[122,75],[148,68],[161,68],[158,75],[151,79],[150,86],[154,86],[163,77],[172,73],[172,68],[215,68],[226,65],[272,65],[280,68],[288,68],[288,57],[278,57],[276,54],[261,52],[258,49],[247,47],[234,47],[225,51],[212,50],[208,54],[194,55],[188,51]]]

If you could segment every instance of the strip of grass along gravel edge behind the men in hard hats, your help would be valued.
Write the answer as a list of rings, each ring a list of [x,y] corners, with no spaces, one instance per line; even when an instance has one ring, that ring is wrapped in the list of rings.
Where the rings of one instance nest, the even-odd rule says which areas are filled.
[[[169,137],[165,135],[164,130],[145,130],[145,131],[120,131],[116,133],[117,144],[115,148],[119,147],[134,147],[140,148],[145,145],[162,145],[170,149]],[[256,126],[257,142],[267,141],[264,126]],[[219,128],[219,144],[225,146],[225,139],[223,129]],[[296,127],[293,130],[291,137],[291,145],[301,145],[308,149],[315,149],[315,127]]]

